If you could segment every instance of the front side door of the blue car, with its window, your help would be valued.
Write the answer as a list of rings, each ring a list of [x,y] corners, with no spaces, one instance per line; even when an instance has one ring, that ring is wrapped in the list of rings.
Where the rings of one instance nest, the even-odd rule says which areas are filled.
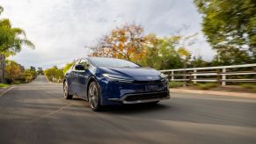
[[[81,61],[79,61],[80,65],[84,66],[84,71],[80,71],[77,74],[77,85],[78,85],[78,95],[80,97],[83,97],[84,99],[86,99],[86,83],[88,81],[88,77],[91,75],[91,72],[89,70],[89,68],[91,68],[90,63],[85,60],[82,59]]]

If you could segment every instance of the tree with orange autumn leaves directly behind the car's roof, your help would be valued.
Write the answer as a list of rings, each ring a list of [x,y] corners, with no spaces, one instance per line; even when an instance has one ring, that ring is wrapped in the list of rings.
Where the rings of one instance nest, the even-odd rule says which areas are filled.
[[[86,47],[92,50],[92,56],[105,56],[141,61],[144,51],[143,28],[140,25],[126,24],[116,27],[101,40],[95,47]]]

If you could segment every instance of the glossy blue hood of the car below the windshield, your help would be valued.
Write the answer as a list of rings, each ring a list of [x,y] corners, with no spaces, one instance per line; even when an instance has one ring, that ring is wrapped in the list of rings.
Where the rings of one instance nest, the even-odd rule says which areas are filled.
[[[106,74],[127,76],[139,81],[160,79],[160,72],[153,68],[99,68]]]

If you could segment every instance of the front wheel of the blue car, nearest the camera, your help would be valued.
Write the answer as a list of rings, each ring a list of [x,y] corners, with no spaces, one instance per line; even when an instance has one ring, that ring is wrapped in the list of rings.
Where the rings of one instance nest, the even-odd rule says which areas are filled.
[[[91,110],[95,112],[99,112],[101,110],[99,91],[98,84],[96,82],[91,82],[88,90],[88,99]]]

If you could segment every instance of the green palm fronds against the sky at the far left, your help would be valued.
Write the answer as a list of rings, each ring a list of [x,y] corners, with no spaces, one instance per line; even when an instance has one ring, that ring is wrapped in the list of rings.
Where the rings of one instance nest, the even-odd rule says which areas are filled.
[[[0,14],[3,11],[3,7],[0,6]],[[0,19],[0,53],[5,56],[14,55],[20,52],[23,45],[34,48],[33,43],[26,39],[24,30],[12,27],[7,18]]]

